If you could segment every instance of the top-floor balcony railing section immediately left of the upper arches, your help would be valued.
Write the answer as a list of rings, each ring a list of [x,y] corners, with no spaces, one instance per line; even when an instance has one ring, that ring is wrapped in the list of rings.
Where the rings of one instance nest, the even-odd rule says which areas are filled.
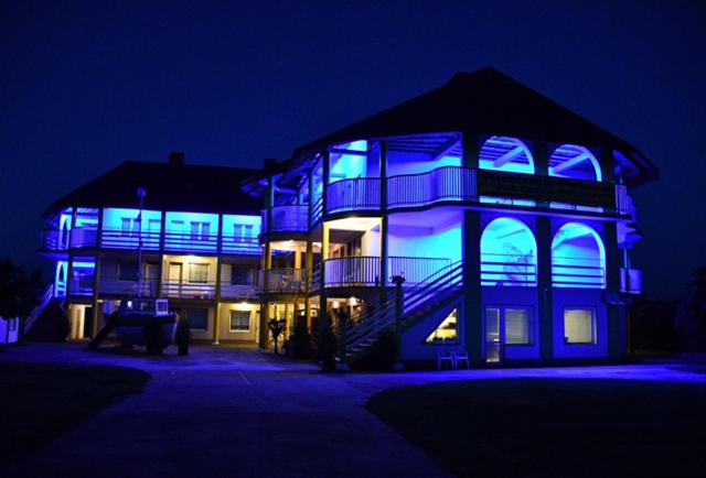
[[[387,207],[391,209],[477,198],[475,171],[469,167],[443,166],[428,173],[404,174],[387,180]]]

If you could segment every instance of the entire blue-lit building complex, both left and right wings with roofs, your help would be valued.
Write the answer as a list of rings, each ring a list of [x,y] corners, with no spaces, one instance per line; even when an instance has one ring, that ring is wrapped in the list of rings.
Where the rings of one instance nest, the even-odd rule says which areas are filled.
[[[229,183],[185,173],[160,189],[125,183],[137,175],[120,167],[47,214],[44,250],[57,294],[78,314],[74,337],[88,307],[107,311],[135,292],[136,262],[121,263],[139,237],[135,189],[147,187],[145,293],[173,298],[215,343],[234,337],[242,306],[252,312],[242,337],[260,346],[268,318],[313,329],[325,314],[343,362],[391,329],[407,362],[451,349],[473,366],[627,352],[627,304],[641,289],[630,188],[659,172],[637,148],[495,69],[457,74],[261,171],[223,169]],[[223,191],[217,200],[170,196],[180,181]],[[404,278],[397,314],[394,276]],[[84,335],[95,330],[85,324]]]

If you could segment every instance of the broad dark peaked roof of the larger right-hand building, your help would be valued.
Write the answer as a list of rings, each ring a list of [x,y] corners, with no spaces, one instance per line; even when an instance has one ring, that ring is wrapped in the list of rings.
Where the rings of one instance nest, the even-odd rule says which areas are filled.
[[[298,148],[293,157],[361,139],[447,131],[609,148],[630,156],[640,171],[637,182],[659,177],[632,144],[490,67],[458,73],[440,88]]]

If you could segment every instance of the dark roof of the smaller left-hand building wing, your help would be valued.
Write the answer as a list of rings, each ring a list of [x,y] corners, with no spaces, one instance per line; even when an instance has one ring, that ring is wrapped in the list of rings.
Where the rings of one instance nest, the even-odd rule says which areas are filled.
[[[261,199],[239,187],[257,171],[127,161],[55,200],[44,216],[74,206],[136,208],[139,187],[147,189],[146,209],[259,215]]]

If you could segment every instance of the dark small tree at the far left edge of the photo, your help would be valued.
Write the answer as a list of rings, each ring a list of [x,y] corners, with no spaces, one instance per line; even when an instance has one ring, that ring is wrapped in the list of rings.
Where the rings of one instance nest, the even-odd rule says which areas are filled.
[[[41,291],[42,275],[39,270],[28,273],[10,259],[0,261],[0,317],[6,321],[18,317],[20,337],[24,319],[39,304]]]

